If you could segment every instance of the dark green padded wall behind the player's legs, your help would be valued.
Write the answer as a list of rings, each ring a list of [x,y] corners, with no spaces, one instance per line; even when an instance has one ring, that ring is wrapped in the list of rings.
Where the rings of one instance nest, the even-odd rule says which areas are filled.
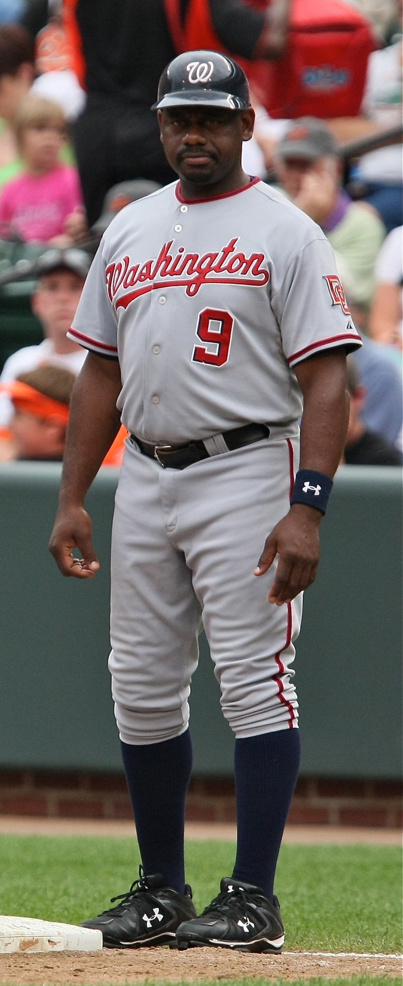
[[[96,579],[63,579],[47,551],[60,466],[0,465],[0,766],[120,770],[110,698],[108,555],[115,470],[88,496]],[[401,768],[401,472],[345,466],[321,526],[296,659],[302,774],[395,778]],[[208,647],[194,675],[195,773],[232,773]]]

